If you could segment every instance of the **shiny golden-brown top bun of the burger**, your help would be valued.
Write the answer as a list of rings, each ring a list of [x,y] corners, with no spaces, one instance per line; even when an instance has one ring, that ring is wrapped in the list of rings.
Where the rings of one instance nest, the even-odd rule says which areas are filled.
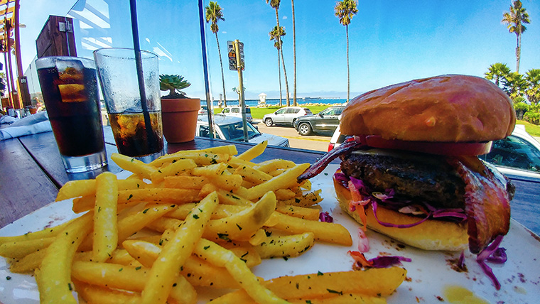
[[[480,142],[512,134],[512,100],[481,77],[441,75],[390,85],[352,99],[342,113],[347,135],[429,142]]]

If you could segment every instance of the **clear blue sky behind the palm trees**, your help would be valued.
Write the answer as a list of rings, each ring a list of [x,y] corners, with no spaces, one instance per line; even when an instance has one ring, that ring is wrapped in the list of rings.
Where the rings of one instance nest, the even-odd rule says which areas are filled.
[[[87,0],[98,3],[102,0]],[[124,1],[126,4],[128,0]],[[207,5],[205,0],[205,5]],[[524,0],[531,24],[522,40],[522,74],[540,68],[540,7]],[[218,0],[225,21],[219,24],[222,56],[227,40],[244,43],[246,97],[265,92],[279,97],[277,51],[269,40],[276,25],[274,9],[264,0]],[[360,1],[359,12],[349,26],[351,97],[396,82],[448,73],[483,76],[492,63],[502,62],[515,70],[516,36],[500,21],[511,1]],[[29,5],[31,4],[31,5]],[[75,1],[21,0],[23,65],[36,54],[35,39],[49,14],[65,16]],[[202,55],[196,0],[139,0],[141,48],[166,54],[160,72],[184,75],[192,86],[185,92],[203,97]],[[296,60],[298,97],[347,95],[345,26],[334,16],[335,1],[296,1]],[[129,11],[110,12],[110,18],[129,23]],[[291,1],[281,1],[280,25],[290,92],[293,90],[293,28]],[[127,36],[129,33],[125,33]],[[215,36],[207,28],[207,55],[212,96],[222,91]],[[130,47],[123,44],[114,46]],[[128,43],[129,44],[129,43]],[[84,53],[81,52],[80,53]],[[227,99],[236,99],[235,71],[225,69]],[[284,77],[282,86],[285,92]],[[285,93],[284,93],[285,94]]]

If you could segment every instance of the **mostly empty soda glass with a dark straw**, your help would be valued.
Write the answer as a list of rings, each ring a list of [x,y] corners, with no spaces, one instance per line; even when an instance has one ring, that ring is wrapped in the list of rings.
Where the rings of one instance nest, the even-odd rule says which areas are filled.
[[[94,51],[94,58],[119,153],[141,161],[161,156],[163,126],[158,56],[141,51],[144,101],[141,101],[133,49],[102,48]]]

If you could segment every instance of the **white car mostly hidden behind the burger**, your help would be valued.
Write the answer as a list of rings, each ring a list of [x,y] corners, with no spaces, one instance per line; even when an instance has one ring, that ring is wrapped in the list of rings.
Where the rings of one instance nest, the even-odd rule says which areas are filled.
[[[340,128],[335,129],[328,151],[340,146],[346,140]],[[493,141],[490,153],[480,159],[495,165],[509,178],[525,177],[540,180],[540,143],[525,131],[525,126],[517,124],[512,135],[506,139]]]

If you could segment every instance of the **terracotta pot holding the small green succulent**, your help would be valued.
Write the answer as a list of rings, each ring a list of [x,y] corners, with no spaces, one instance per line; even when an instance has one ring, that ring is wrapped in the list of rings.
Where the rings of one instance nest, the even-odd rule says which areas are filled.
[[[169,143],[195,139],[200,99],[161,99],[163,135]]]

